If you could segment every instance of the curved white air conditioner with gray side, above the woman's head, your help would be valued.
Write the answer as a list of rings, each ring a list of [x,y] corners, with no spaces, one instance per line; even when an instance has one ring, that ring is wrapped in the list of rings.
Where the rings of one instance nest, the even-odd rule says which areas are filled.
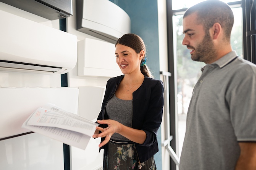
[[[76,29],[110,43],[131,31],[131,20],[109,0],[76,0]]]

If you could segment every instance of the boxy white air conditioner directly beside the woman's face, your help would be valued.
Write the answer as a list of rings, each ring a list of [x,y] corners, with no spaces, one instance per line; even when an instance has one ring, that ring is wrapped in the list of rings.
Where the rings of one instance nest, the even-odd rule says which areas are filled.
[[[122,75],[115,57],[115,44],[85,38],[78,41],[78,76]]]

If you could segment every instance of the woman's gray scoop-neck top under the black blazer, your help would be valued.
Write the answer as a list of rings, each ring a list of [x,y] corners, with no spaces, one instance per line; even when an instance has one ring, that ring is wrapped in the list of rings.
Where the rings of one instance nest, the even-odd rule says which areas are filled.
[[[118,99],[114,94],[107,103],[106,112],[109,116],[109,119],[118,121],[125,126],[131,127],[133,116],[133,100]],[[113,140],[130,141],[119,133],[114,133],[111,138]]]

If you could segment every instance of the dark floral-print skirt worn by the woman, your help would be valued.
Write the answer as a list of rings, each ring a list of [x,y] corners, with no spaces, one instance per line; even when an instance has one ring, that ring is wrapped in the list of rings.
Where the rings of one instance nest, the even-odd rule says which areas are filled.
[[[138,170],[138,156],[134,143],[119,143],[109,141],[107,143],[107,156],[104,154],[104,170]],[[141,170],[157,170],[154,156],[141,163]]]

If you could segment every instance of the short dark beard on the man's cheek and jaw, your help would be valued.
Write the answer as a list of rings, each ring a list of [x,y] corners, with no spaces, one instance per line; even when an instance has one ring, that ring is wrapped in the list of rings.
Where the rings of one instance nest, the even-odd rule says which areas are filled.
[[[191,54],[191,59],[208,64],[217,57],[216,53],[210,34],[206,32],[202,42],[195,47],[195,52]]]

